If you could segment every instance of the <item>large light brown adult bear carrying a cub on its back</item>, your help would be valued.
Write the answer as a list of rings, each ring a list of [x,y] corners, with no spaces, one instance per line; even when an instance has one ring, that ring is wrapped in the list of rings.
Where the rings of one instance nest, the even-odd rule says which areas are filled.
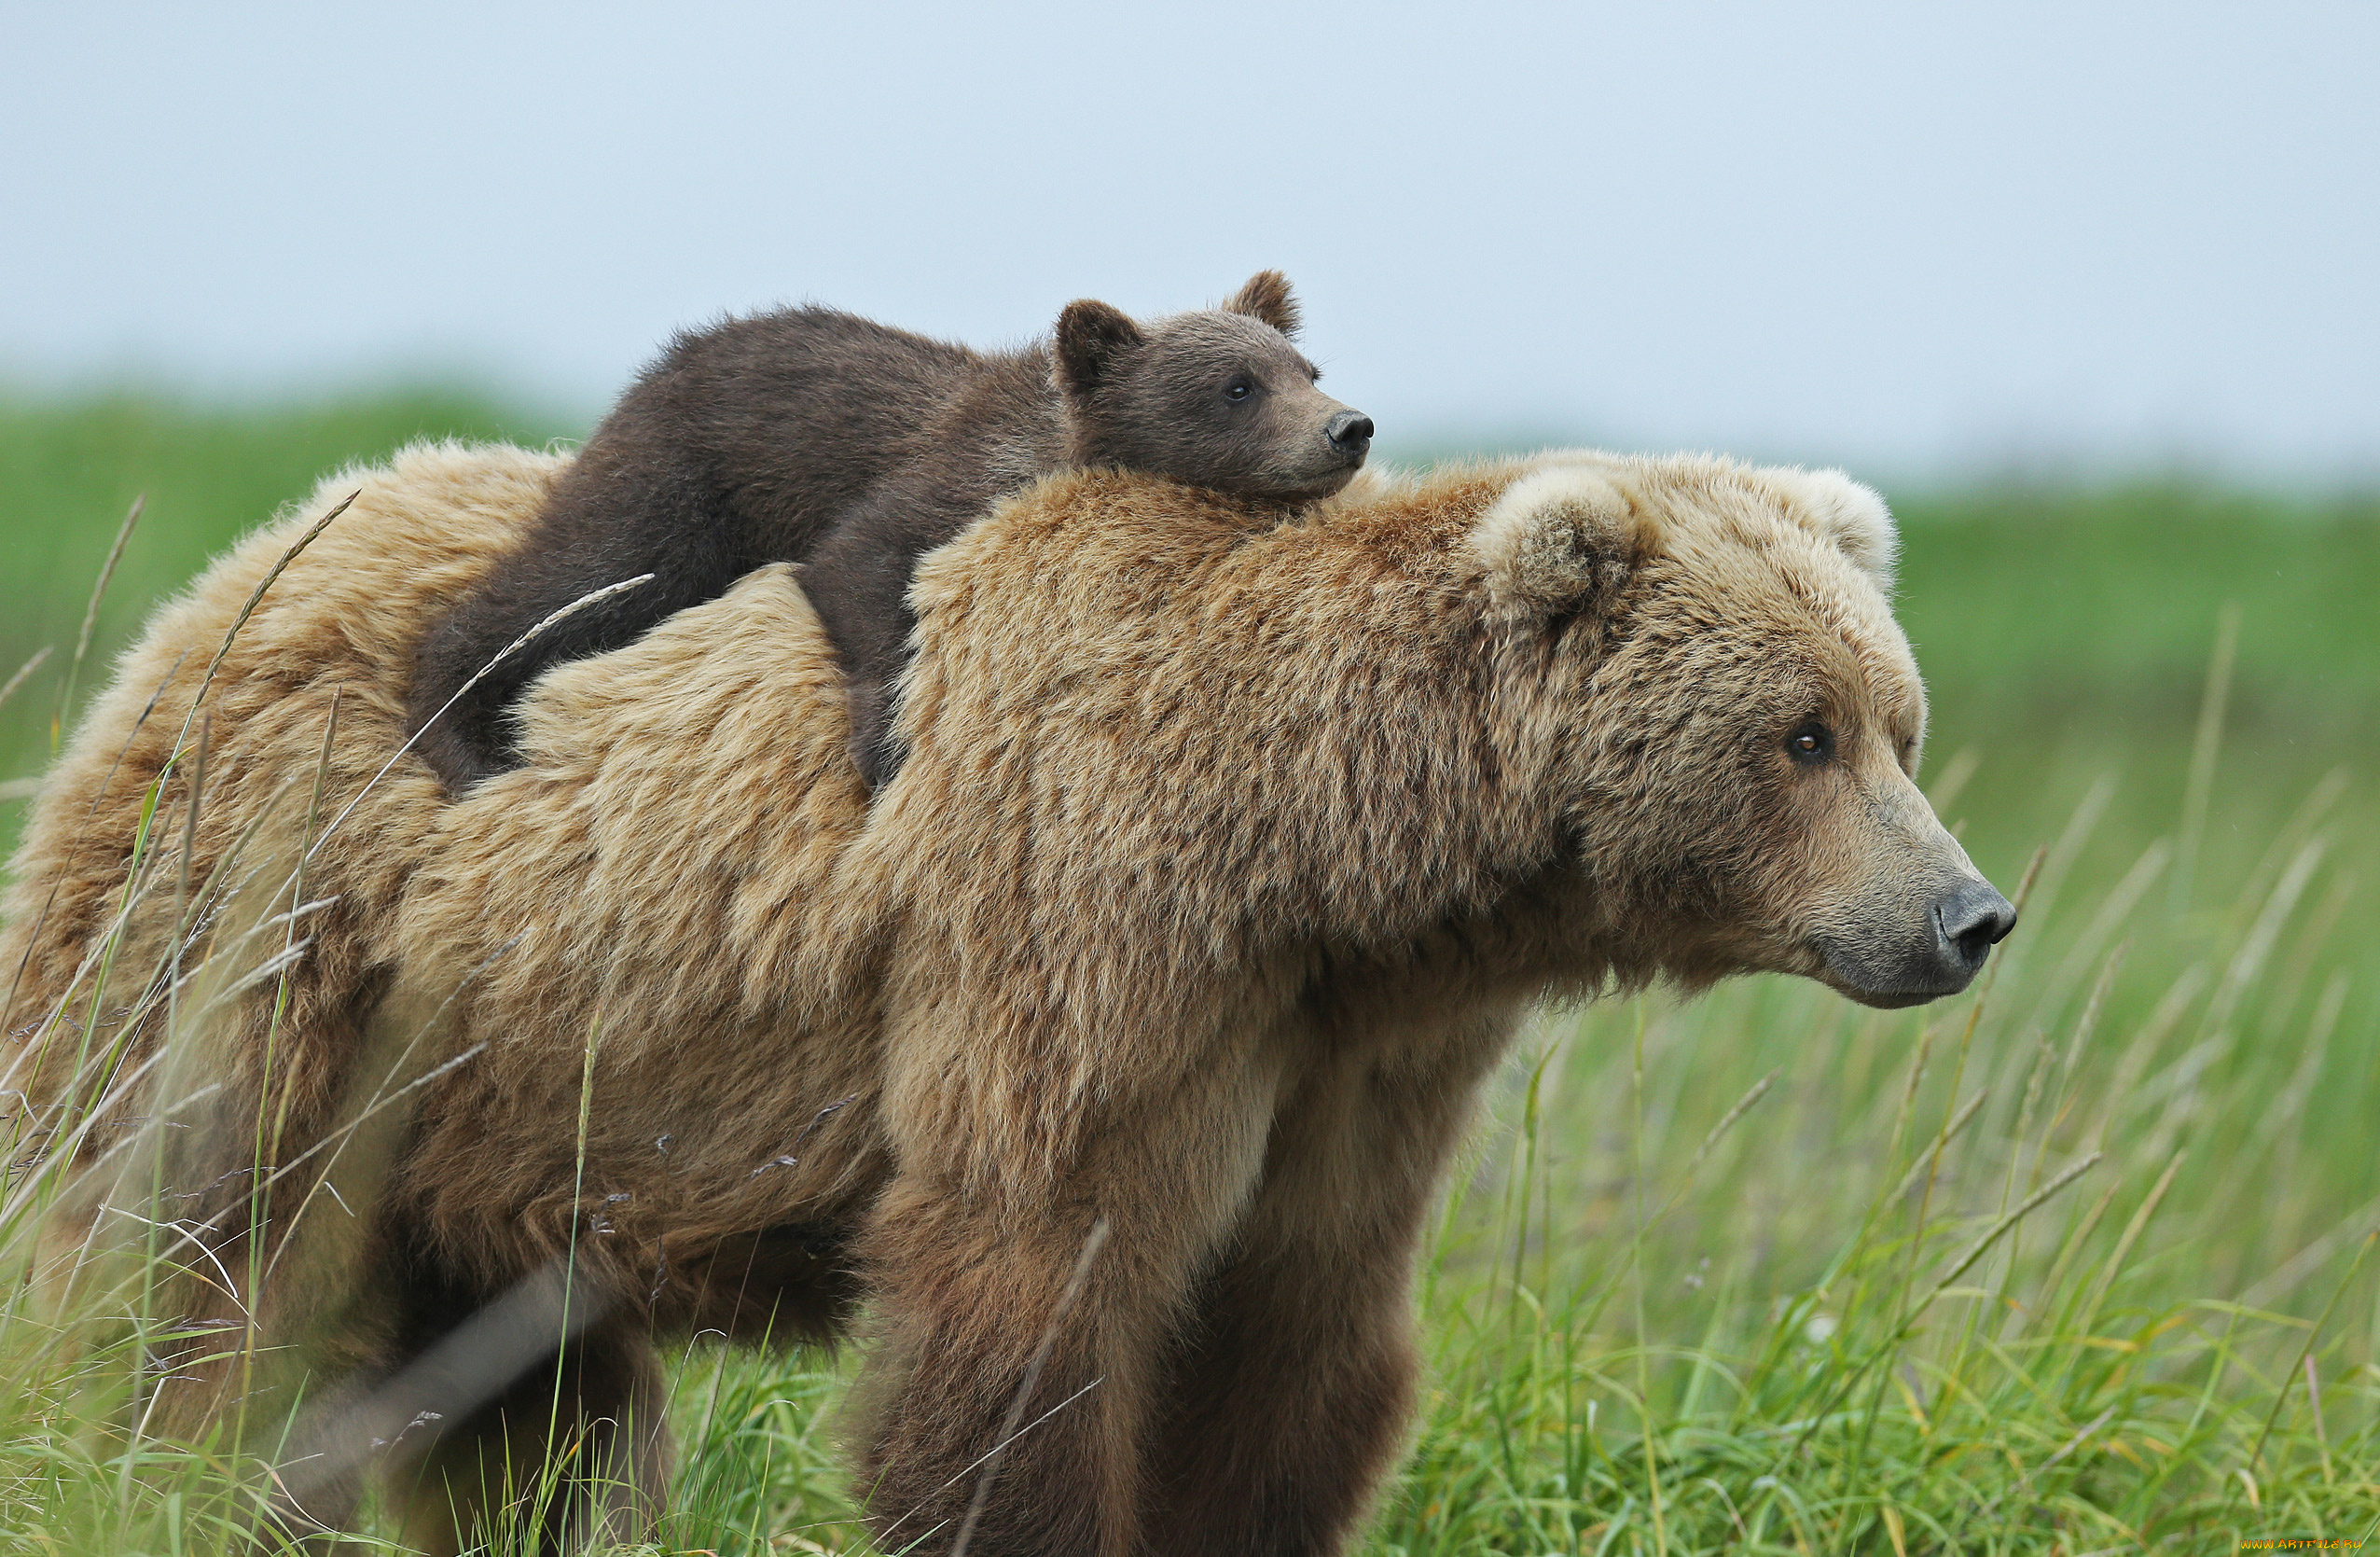
[[[343,1521],[395,1438],[409,1536],[452,1550],[559,1386],[590,1436],[555,1540],[633,1526],[654,1333],[823,1336],[864,1295],[888,1547],[1335,1552],[1407,1417],[1426,1202],[1533,1002],[1773,969],[1902,1005],[2011,926],[1911,783],[1890,519],[1833,474],[1549,455],[1290,526],[1057,476],[926,562],[873,805],[785,569],[550,671],[528,764],[462,802],[381,776],[421,624],[559,469],[412,450],[250,538],[126,657],[17,862],[7,1086],[93,1186],[62,1236],[164,1183],[193,1328],[307,1343],[290,1519]],[[93,990],[207,662],[350,488],[131,859],[112,964],[178,1007]],[[278,1021],[274,981],[186,971],[324,898]],[[71,1105],[93,1052],[131,1081]],[[202,1088],[200,1128],[119,1148]],[[566,1328],[490,1340],[555,1271]],[[262,1388],[236,1347],[169,1362],[178,1431]]]

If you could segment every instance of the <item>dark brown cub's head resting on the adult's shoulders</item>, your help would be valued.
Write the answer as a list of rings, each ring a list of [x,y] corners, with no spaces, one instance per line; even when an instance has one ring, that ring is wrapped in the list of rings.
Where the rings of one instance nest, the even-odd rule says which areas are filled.
[[[1314,388],[1321,369],[1295,333],[1280,271],[1257,271],[1223,307],[1152,324],[1069,302],[1054,364],[1066,459],[1242,498],[1328,498],[1364,467],[1371,417]]]

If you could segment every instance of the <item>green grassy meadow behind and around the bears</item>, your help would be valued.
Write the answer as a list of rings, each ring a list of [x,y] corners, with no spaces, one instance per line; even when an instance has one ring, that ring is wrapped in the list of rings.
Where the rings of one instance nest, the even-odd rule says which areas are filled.
[[[145,602],[464,398],[0,409],[0,781]],[[1423,1274],[1373,1552],[2240,1550],[2380,1528],[2380,502],[1894,493],[1925,786],[2023,926],[1975,993],[1549,1014]],[[19,807],[0,809],[0,831]],[[0,1226],[21,1259],[21,1228]],[[0,1547],[207,1550],[240,1474],[0,1309]],[[693,1350],[685,1550],[857,1550],[821,1359]]]

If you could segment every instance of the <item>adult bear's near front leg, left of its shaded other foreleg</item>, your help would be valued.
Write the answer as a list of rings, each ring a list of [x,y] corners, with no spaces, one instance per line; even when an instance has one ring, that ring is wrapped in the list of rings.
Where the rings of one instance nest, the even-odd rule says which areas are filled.
[[[950,1552],[962,1528],[969,1557],[1140,1550],[1150,1386],[1264,1155],[1271,1074],[1230,1069],[1102,1109],[1061,1174],[969,1183],[962,1143],[883,1193],[859,1462],[883,1550]]]

